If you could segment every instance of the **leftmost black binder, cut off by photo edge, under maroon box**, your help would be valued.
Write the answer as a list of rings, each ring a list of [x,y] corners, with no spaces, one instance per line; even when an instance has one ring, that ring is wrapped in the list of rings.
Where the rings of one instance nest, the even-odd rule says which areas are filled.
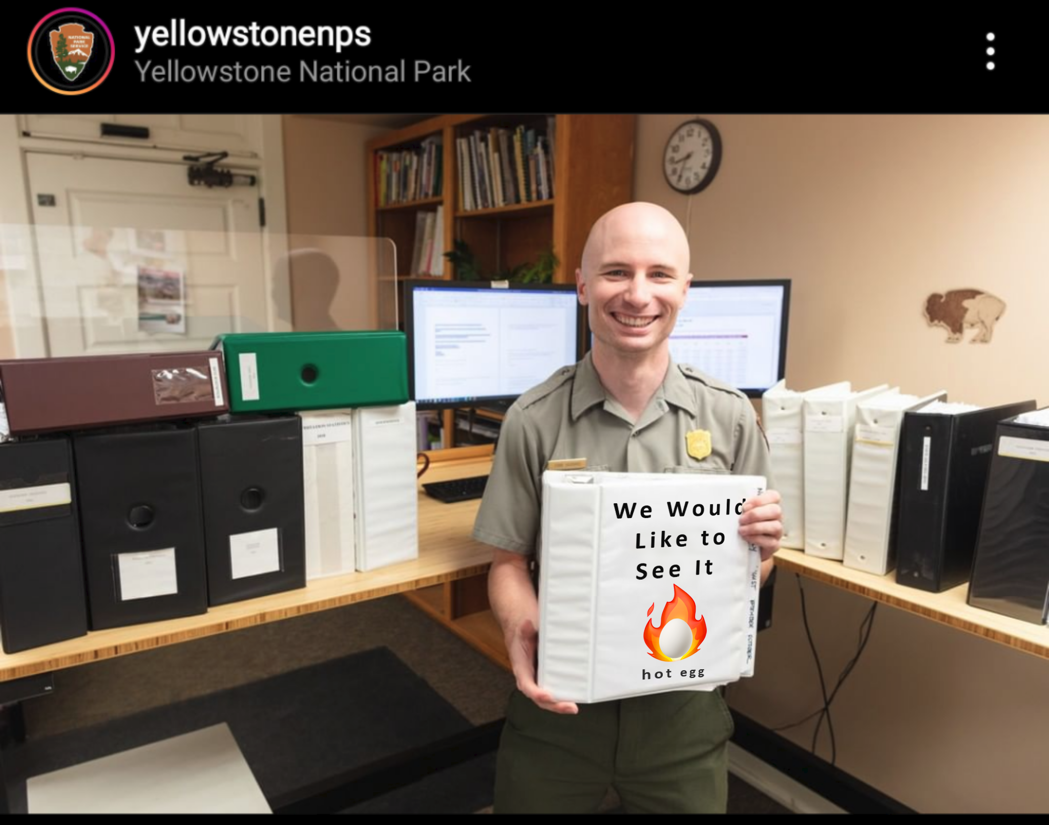
[[[87,633],[77,485],[67,438],[0,445],[4,653]]]

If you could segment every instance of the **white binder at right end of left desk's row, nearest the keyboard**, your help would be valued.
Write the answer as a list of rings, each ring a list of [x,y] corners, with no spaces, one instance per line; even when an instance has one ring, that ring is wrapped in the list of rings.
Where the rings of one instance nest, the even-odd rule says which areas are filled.
[[[354,410],[357,569],[419,557],[415,403]]]

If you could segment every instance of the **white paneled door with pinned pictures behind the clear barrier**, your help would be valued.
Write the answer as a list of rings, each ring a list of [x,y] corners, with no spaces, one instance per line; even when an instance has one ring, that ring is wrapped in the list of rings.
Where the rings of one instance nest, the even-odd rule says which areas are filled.
[[[190,186],[173,163],[26,164],[50,355],[206,350],[219,333],[271,329],[282,297],[257,188]]]

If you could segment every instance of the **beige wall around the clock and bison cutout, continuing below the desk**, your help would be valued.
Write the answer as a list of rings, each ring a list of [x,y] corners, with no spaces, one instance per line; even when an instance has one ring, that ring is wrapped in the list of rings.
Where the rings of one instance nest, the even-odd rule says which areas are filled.
[[[685,117],[645,115],[635,194],[687,225],[697,277],[793,279],[788,386],[1049,404],[1049,117],[705,117],[725,144],[711,186],[671,192],[660,155]],[[968,287],[1007,303],[990,344],[948,344],[922,317],[929,293]],[[871,602],[802,584],[830,691]],[[820,706],[799,604],[782,576],[757,676],[729,691],[769,727]],[[1049,662],[881,606],[833,704],[837,766],[922,812],[1044,811],[1046,696]],[[808,748],[813,727],[785,736]]]

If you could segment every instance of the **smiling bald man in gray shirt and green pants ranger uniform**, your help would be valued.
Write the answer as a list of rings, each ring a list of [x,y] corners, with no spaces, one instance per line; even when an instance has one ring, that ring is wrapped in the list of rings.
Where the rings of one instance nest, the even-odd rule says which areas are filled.
[[[715,691],[578,706],[536,684],[532,572],[547,469],[770,475],[768,445],[738,390],[670,360],[667,339],[692,276],[688,239],[662,207],[600,217],[576,271],[594,345],[508,410],[474,537],[494,548],[489,597],[517,689],[496,767],[496,812],[597,810],[609,787],[628,811],[724,812],[731,716]],[[779,494],[744,505],[740,534],[779,546]]]

